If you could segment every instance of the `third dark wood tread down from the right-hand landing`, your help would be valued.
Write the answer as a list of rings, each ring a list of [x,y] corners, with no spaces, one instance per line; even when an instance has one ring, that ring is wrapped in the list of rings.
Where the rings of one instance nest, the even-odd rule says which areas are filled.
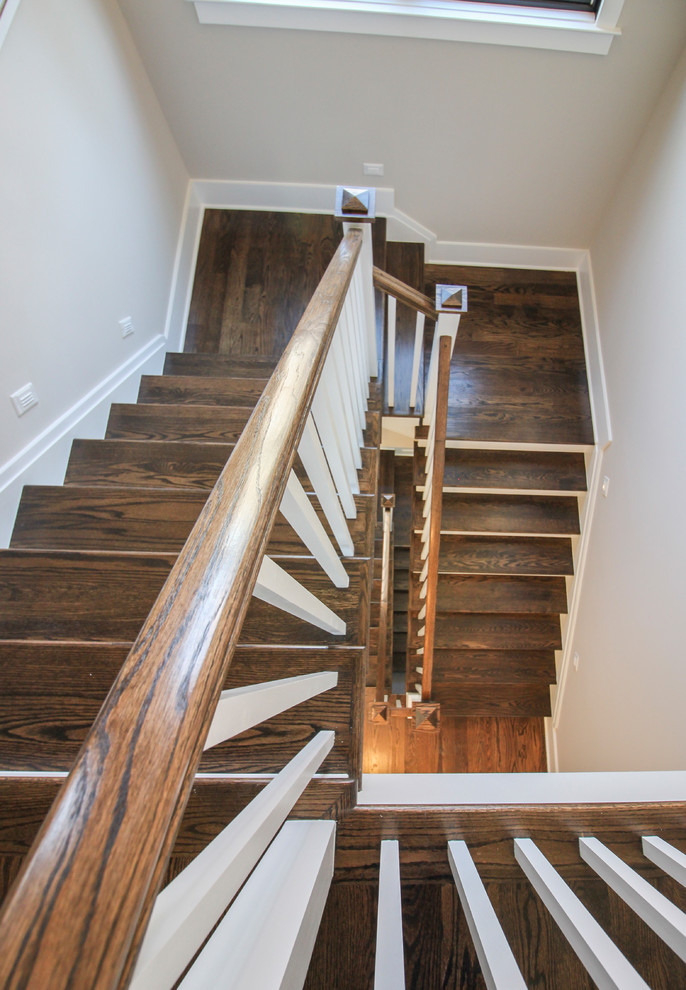
[[[571,541],[565,537],[441,537],[442,574],[573,574]]]

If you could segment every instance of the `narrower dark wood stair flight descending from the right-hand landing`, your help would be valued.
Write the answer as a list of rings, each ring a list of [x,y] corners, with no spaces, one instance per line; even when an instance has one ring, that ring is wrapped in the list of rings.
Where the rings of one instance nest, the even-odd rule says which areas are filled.
[[[410,685],[422,648],[421,441],[414,464]],[[585,488],[581,453],[446,450],[432,697],[444,714],[550,715]]]

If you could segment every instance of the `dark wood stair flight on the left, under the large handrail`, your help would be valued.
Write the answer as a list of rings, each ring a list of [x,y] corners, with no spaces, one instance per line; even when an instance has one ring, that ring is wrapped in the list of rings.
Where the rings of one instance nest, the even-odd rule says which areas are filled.
[[[10,549],[0,553],[0,765],[27,774],[2,782],[3,895],[59,782],[28,775],[71,767],[275,363],[168,354],[163,375],[142,379],[137,403],[112,407],[103,440],[74,441],[63,486],[24,489]],[[169,877],[264,786],[233,775],[277,773],[317,732],[334,731],[335,743],[296,816],[336,817],[354,802],[378,407],[372,400],[350,520],[349,587],[331,585],[281,516],[268,545],[273,560],[344,618],[345,636],[253,599],[225,683],[333,670],[337,687],[203,755]],[[330,532],[304,469],[297,473]]]

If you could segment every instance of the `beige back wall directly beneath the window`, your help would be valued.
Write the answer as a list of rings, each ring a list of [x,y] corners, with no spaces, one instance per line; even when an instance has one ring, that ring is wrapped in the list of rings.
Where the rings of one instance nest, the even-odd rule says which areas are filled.
[[[441,240],[586,247],[686,44],[626,0],[607,56],[204,26],[118,0],[193,178],[379,185]]]

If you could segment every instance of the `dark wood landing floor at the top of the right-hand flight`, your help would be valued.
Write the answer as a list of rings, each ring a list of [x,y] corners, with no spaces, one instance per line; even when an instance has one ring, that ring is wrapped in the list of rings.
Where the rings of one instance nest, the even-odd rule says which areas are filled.
[[[449,437],[593,443],[575,274],[427,265],[427,295],[442,282],[469,287]]]

